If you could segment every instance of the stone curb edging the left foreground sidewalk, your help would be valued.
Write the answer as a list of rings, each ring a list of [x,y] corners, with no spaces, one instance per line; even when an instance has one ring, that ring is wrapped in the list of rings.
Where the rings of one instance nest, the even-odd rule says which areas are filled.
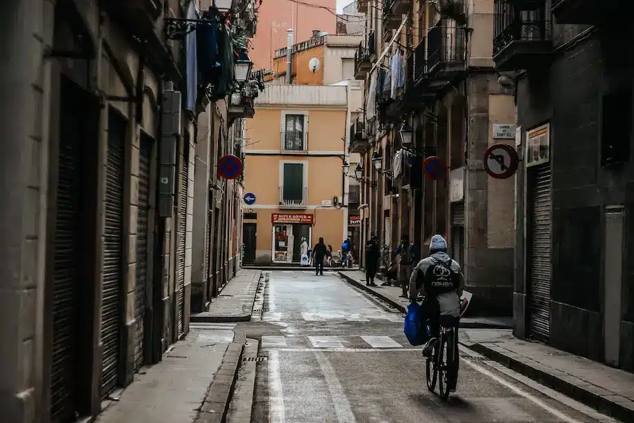
[[[194,423],[222,423],[226,420],[231,393],[235,388],[239,364],[244,353],[246,336],[236,333],[229,344],[222,364],[210,384]]]

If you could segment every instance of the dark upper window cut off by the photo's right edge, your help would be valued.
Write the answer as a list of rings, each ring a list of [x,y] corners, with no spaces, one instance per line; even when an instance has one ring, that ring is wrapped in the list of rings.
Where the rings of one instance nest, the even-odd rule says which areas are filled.
[[[630,160],[632,87],[620,87],[603,96],[601,165]]]

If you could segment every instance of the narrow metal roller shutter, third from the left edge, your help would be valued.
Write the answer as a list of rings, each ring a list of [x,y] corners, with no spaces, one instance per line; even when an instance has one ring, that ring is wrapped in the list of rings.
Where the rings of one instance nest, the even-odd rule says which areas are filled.
[[[150,152],[152,141],[141,137],[139,201],[137,204],[137,277],[135,280],[135,370],[143,364],[143,323],[148,280],[148,215],[150,213]]]

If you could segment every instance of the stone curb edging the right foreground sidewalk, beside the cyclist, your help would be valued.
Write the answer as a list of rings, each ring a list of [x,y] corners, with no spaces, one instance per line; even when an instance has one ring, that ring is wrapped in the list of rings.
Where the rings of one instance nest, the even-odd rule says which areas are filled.
[[[588,384],[571,375],[562,373],[562,375],[564,375],[563,377],[570,380],[570,382],[568,382],[564,380],[563,377],[558,377],[557,375],[553,375],[547,371],[539,370],[539,368],[533,367],[530,364],[526,364],[519,360],[515,360],[513,357],[498,353],[492,348],[482,344],[464,346],[470,348],[476,353],[484,355],[484,357],[487,357],[494,362],[498,362],[499,364],[516,371],[517,373],[529,377],[544,386],[548,386],[548,388],[553,388],[555,391],[562,393],[567,397],[571,397],[573,400],[586,404],[600,413],[609,415],[610,417],[620,420],[623,423],[634,423],[634,405],[626,404],[631,401],[624,397],[620,397],[620,395],[614,395],[600,386]],[[620,404],[619,402],[623,402],[623,404]]]

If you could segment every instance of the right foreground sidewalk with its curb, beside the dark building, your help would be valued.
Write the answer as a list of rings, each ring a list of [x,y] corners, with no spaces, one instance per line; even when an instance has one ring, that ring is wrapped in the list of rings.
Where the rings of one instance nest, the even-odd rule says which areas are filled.
[[[460,343],[601,413],[634,423],[633,373],[518,340],[509,330],[466,329]]]

